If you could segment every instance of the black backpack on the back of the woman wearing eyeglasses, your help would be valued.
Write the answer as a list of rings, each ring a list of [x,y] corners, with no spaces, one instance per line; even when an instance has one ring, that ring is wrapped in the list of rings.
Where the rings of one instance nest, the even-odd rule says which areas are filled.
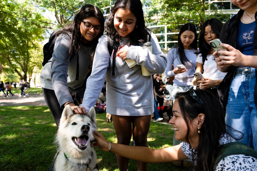
[[[43,53],[44,53],[44,59],[42,62],[42,65],[45,66],[45,64],[52,58],[53,56],[53,48],[54,48],[54,43],[56,41],[56,33],[59,31],[56,30],[54,32],[52,32],[52,34],[50,35],[49,41],[47,43],[45,43],[44,47],[43,47]]]

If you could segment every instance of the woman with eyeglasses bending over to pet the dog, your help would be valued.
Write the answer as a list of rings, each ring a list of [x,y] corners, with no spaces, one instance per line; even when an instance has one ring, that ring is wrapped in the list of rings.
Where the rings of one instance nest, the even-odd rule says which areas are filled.
[[[98,38],[104,32],[104,16],[94,5],[83,6],[73,22],[57,31],[53,56],[40,76],[45,101],[59,126],[63,108],[83,98]],[[80,101],[80,99],[78,100]]]

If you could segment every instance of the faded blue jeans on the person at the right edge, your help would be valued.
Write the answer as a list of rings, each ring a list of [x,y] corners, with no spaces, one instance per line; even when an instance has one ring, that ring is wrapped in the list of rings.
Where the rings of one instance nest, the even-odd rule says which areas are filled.
[[[257,150],[257,111],[254,103],[255,68],[236,69],[231,80],[226,107],[226,124],[240,131],[244,137],[238,142]],[[242,134],[227,127],[227,132],[234,138]]]

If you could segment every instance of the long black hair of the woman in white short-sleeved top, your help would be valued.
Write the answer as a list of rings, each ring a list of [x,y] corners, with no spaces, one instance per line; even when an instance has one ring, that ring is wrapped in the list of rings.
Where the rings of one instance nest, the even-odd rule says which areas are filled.
[[[206,20],[204,22],[199,35],[199,51],[200,51],[199,53],[202,54],[202,57],[205,58],[205,60],[207,60],[207,55],[209,51],[212,49],[212,47],[204,40],[205,27],[208,25],[210,25],[213,33],[215,33],[217,37],[219,37],[219,34],[221,33],[221,29],[223,27],[222,22],[215,18]]]

